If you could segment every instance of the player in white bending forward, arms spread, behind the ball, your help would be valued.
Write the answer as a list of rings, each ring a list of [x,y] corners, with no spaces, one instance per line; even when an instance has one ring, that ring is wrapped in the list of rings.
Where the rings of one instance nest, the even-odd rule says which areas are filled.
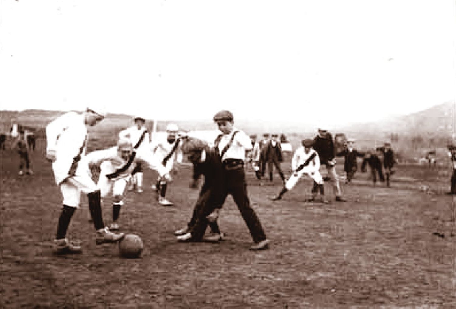
[[[120,139],[117,146],[97,150],[87,154],[85,160],[88,164],[100,166],[101,172],[98,179],[98,188],[104,198],[113,191],[113,222],[109,230],[119,230],[119,214],[124,205],[124,191],[136,164],[147,164],[165,177],[165,168],[161,162],[149,152],[135,152],[129,139]]]

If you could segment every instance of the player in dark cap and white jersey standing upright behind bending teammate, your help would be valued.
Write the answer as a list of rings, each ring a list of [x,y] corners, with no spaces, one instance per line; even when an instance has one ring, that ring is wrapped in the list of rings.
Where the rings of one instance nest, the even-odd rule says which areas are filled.
[[[150,144],[150,136],[149,132],[147,132],[146,127],[144,126],[145,119],[141,116],[136,116],[134,118],[135,125],[130,126],[129,128],[120,131],[119,139],[128,138],[133,144],[133,149],[135,152],[142,152],[149,150]],[[141,163],[137,163],[135,165],[135,169],[132,172],[132,177],[130,179],[130,188],[129,191],[137,189],[138,193],[142,193],[142,181],[143,181],[143,173],[142,173],[142,166]]]

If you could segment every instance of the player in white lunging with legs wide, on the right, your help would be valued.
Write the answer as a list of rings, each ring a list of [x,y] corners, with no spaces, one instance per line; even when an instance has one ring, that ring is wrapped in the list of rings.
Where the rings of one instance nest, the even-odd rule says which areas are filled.
[[[296,185],[298,180],[303,176],[307,175],[314,181],[314,186],[312,188],[312,199],[313,201],[316,197],[316,193],[320,190],[321,202],[328,203],[324,198],[324,187],[323,187],[323,178],[320,174],[320,159],[317,152],[312,148],[313,141],[310,139],[303,140],[302,146],[296,149],[293,158],[291,159],[291,169],[292,174],[290,178],[285,183],[285,186],[280,191],[280,194],[273,198],[272,200],[277,201],[282,199],[282,195],[285,194],[290,189]]]

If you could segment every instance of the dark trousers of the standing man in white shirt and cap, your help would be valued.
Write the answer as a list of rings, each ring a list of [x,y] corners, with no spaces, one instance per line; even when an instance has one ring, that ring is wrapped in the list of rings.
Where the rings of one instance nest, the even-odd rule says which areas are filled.
[[[223,188],[219,196],[221,205],[225,202],[228,194],[231,194],[234,203],[238,206],[254,242],[265,240],[266,234],[255,210],[250,205],[249,196],[247,195],[247,183],[245,182],[243,165],[225,167],[223,169]]]

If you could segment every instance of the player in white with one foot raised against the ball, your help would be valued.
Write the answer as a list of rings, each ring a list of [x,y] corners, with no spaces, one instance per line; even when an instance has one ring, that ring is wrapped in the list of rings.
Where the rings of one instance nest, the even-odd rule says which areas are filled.
[[[88,197],[96,243],[116,242],[124,237],[124,234],[114,234],[104,227],[100,190],[91,178],[88,165],[80,162],[87,151],[87,127],[95,126],[103,118],[100,111],[88,108],[83,114],[64,114],[46,126],[46,158],[52,162],[52,171],[63,195],[63,209],[55,240],[57,254],[81,252],[80,246],[73,245],[66,238],[81,192]]]

